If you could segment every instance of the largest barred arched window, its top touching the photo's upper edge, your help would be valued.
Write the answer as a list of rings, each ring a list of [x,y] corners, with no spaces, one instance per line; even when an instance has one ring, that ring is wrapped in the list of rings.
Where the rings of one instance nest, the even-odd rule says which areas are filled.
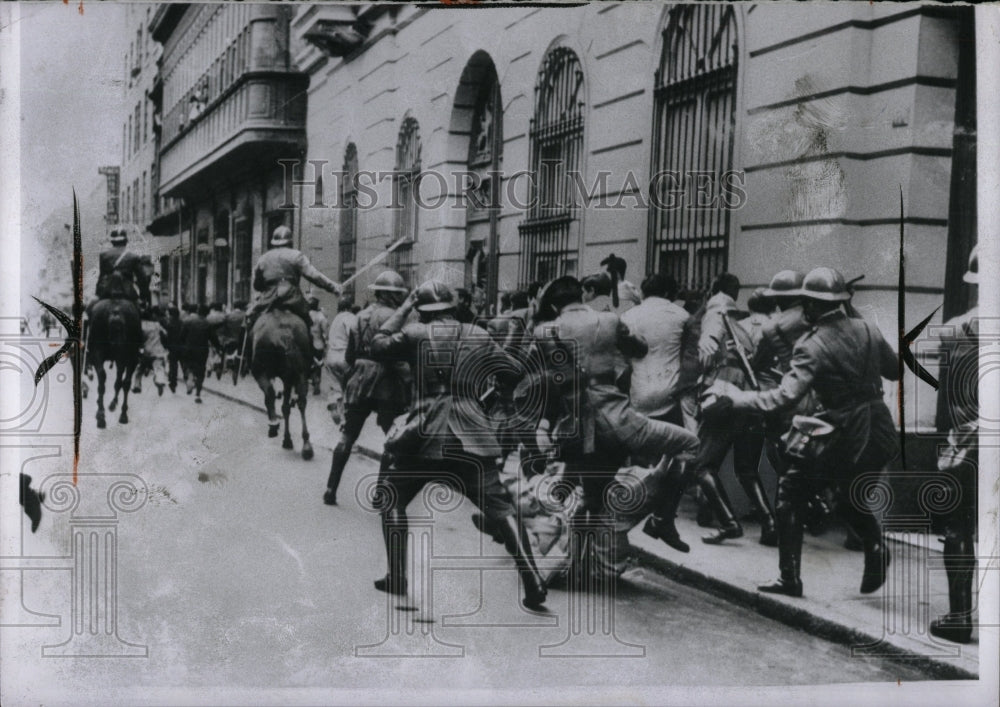
[[[683,287],[701,290],[728,260],[730,213],[720,185],[733,167],[735,10],[725,3],[676,5],[669,10],[662,45],[655,76],[650,182],[655,198],[646,262]],[[695,208],[705,200],[710,207]]]

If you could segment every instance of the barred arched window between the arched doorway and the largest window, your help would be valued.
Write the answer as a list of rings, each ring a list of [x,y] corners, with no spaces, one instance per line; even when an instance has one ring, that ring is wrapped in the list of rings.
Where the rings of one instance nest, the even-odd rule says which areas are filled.
[[[583,67],[573,50],[550,50],[535,84],[529,158],[534,179],[528,217],[519,226],[524,283],[576,274],[579,205],[569,173],[582,167],[584,95]]]

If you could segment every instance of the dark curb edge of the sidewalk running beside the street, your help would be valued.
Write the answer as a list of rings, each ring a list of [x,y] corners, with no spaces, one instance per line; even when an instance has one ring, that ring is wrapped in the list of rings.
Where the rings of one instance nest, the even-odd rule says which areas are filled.
[[[218,390],[213,390],[204,386],[202,390],[206,393],[243,405],[252,410],[265,413],[264,406],[255,405],[233,395],[228,395]],[[324,446],[325,445],[317,445]],[[366,457],[376,461],[382,458],[381,452],[370,449],[359,441],[355,444],[354,450]],[[810,613],[801,607],[792,606],[780,599],[772,598],[760,592],[746,589],[744,587],[726,582],[712,577],[683,564],[673,562],[656,555],[648,550],[632,546],[633,551],[639,557],[642,566],[657,572],[668,579],[689,587],[701,589],[729,602],[750,609],[761,616],[765,616],[774,621],[785,624],[792,628],[797,628],[806,633],[833,643],[845,646],[867,646],[877,645],[878,653],[869,653],[873,657],[884,657],[896,662],[905,662],[919,670],[922,670],[934,678],[940,680],[978,680],[979,675],[965,668],[953,665],[945,660],[931,656],[923,656],[914,653],[906,648],[893,645],[888,641],[883,641],[880,637],[865,631],[852,628],[845,624]],[[864,651],[860,655],[865,655]]]

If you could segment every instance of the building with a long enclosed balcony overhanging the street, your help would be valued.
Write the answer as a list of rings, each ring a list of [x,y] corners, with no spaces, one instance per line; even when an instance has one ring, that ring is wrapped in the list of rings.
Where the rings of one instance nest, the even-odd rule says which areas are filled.
[[[251,297],[253,263],[270,232],[293,225],[278,160],[305,148],[306,77],[289,54],[293,10],[273,4],[164,4],[150,33],[162,45],[156,97],[156,233],[175,234],[174,299]]]

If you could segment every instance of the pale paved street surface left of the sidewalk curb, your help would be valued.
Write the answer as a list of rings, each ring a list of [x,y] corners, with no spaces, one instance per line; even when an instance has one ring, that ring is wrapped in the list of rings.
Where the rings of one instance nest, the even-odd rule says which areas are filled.
[[[52,405],[67,402],[65,394],[64,386],[53,384]],[[499,558],[495,562],[501,569],[435,572],[429,590],[433,605],[401,611],[372,588],[372,580],[385,570],[378,517],[365,510],[354,493],[374,478],[376,464],[356,457],[344,477],[342,505],[330,508],[320,501],[328,448],[335,441],[332,424],[313,430],[317,457],[306,462],[298,456],[297,436],[296,451],[281,449],[280,439],[266,437],[263,415],[244,406],[211,395],[196,405],[183,391],[157,398],[152,386],[132,396],[131,402],[130,424],[119,425],[117,415],[109,415],[108,429],[98,431],[91,389],[81,473],[129,471],[148,487],[145,506],[120,515],[117,593],[119,636],[148,646],[148,657],[40,658],[41,645],[60,643],[68,635],[69,573],[26,572],[25,604],[60,614],[63,625],[5,628],[5,672],[28,671],[24,674],[37,675],[39,684],[59,689],[783,685],[923,679],[906,666],[852,658],[843,646],[643,569],[630,571],[614,605],[619,640],[599,630],[594,637],[563,646],[590,655],[624,651],[641,657],[606,657],[600,663],[540,658],[540,646],[559,645],[570,635],[568,594],[550,593],[548,616],[523,611],[512,562],[472,527],[473,509],[467,501],[457,507],[452,503],[453,510],[434,516],[435,561],[464,557],[451,561],[468,565],[468,558],[485,553]],[[297,435],[297,423],[293,429]],[[36,479],[68,470],[65,457],[31,466]],[[101,478],[81,477],[81,494],[100,484],[101,489],[107,486]],[[411,506],[411,516],[416,514],[418,509]],[[65,515],[47,514],[38,534],[26,533],[25,538],[28,553],[69,554]],[[392,634],[393,626],[399,627],[401,637]],[[366,645],[379,647],[361,648]],[[359,657],[366,651],[462,657]]]

